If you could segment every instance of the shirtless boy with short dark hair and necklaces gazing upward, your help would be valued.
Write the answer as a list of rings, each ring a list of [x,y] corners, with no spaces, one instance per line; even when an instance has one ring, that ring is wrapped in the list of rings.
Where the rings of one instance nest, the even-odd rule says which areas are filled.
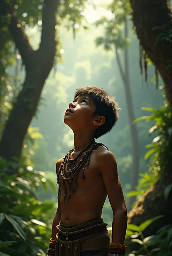
[[[64,122],[74,133],[74,149],[56,163],[58,208],[48,255],[124,255],[127,211],[114,155],[95,139],[118,120],[118,106],[103,89],[75,90]],[[113,211],[112,244],[101,219],[106,196]]]

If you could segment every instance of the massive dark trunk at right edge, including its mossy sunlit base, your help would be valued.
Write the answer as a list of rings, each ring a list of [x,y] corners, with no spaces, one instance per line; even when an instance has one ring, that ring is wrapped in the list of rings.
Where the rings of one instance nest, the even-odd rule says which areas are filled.
[[[140,43],[159,70],[168,102],[172,105],[172,13],[168,1],[130,0],[130,3]],[[129,223],[139,225],[158,215],[164,215],[163,223],[172,222],[172,193],[169,194],[168,201],[164,199],[164,189],[172,183],[172,167],[169,163],[170,159],[157,184],[131,210],[128,215]],[[147,235],[155,233],[158,227],[157,224],[154,225]]]

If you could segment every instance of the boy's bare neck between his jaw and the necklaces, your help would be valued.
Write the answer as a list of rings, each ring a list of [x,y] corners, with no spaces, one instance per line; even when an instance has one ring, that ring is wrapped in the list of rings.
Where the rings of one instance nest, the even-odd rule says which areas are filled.
[[[86,132],[75,132],[74,133],[74,153],[79,154],[94,140],[94,134]]]

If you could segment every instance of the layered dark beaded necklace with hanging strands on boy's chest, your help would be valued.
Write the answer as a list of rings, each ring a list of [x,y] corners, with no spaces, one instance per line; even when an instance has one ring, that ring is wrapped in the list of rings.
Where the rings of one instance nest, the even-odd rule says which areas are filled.
[[[62,183],[64,186],[64,201],[66,202],[66,185],[65,182],[68,183],[69,189],[70,189],[70,193],[69,193],[69,197],[67,199],[67,203],[69,202],[69,199],[71,198],[72,192],[73,192],[73,197],[75,195],[75,191],[76,191],[76,183],[77,183],[77,176],[80,170],[82,170],[82,174],[81,174],[81,179],[85,180],[85,174],[84,174],[84,170],[85,167],[89,164],[90,162],[90,155],[91,152],[96,149],[98,146],[104,146],[102,143],[95,143],[95,139],[84,149],[82,150],[76,158],[71,159],[70,155],[71,153],[74,151],[75,148],[71,149],[64,157],[64,160],[61,163],[61,166],[57,172],[57,184],[58,184],[58,196],[60,193],[60,174],[62,176]],[[107,148],[107,147],[106,147]],[[108,150],[108,148],[107,148]],[[86,153],[83,155],[83,157],[79,160],[79,162],[76,164],[78,158],[82,155],[83,152]],[[73,166],[72,168],[70,168],[69,164],[71,166]],[[67,176],[66,176],[67,174]],[[74,180],[74,182],[73,182]]]

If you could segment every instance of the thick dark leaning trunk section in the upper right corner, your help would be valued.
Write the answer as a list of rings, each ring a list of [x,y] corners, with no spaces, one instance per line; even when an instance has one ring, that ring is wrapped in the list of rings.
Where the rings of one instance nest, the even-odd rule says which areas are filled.
[[[159,70],[172,105],[172,13],[167,0],[130,0],[136,32],[144,50]],[[160,37],[164,34],[164,37]],[[158,39],[159,38],[159,39]]]

